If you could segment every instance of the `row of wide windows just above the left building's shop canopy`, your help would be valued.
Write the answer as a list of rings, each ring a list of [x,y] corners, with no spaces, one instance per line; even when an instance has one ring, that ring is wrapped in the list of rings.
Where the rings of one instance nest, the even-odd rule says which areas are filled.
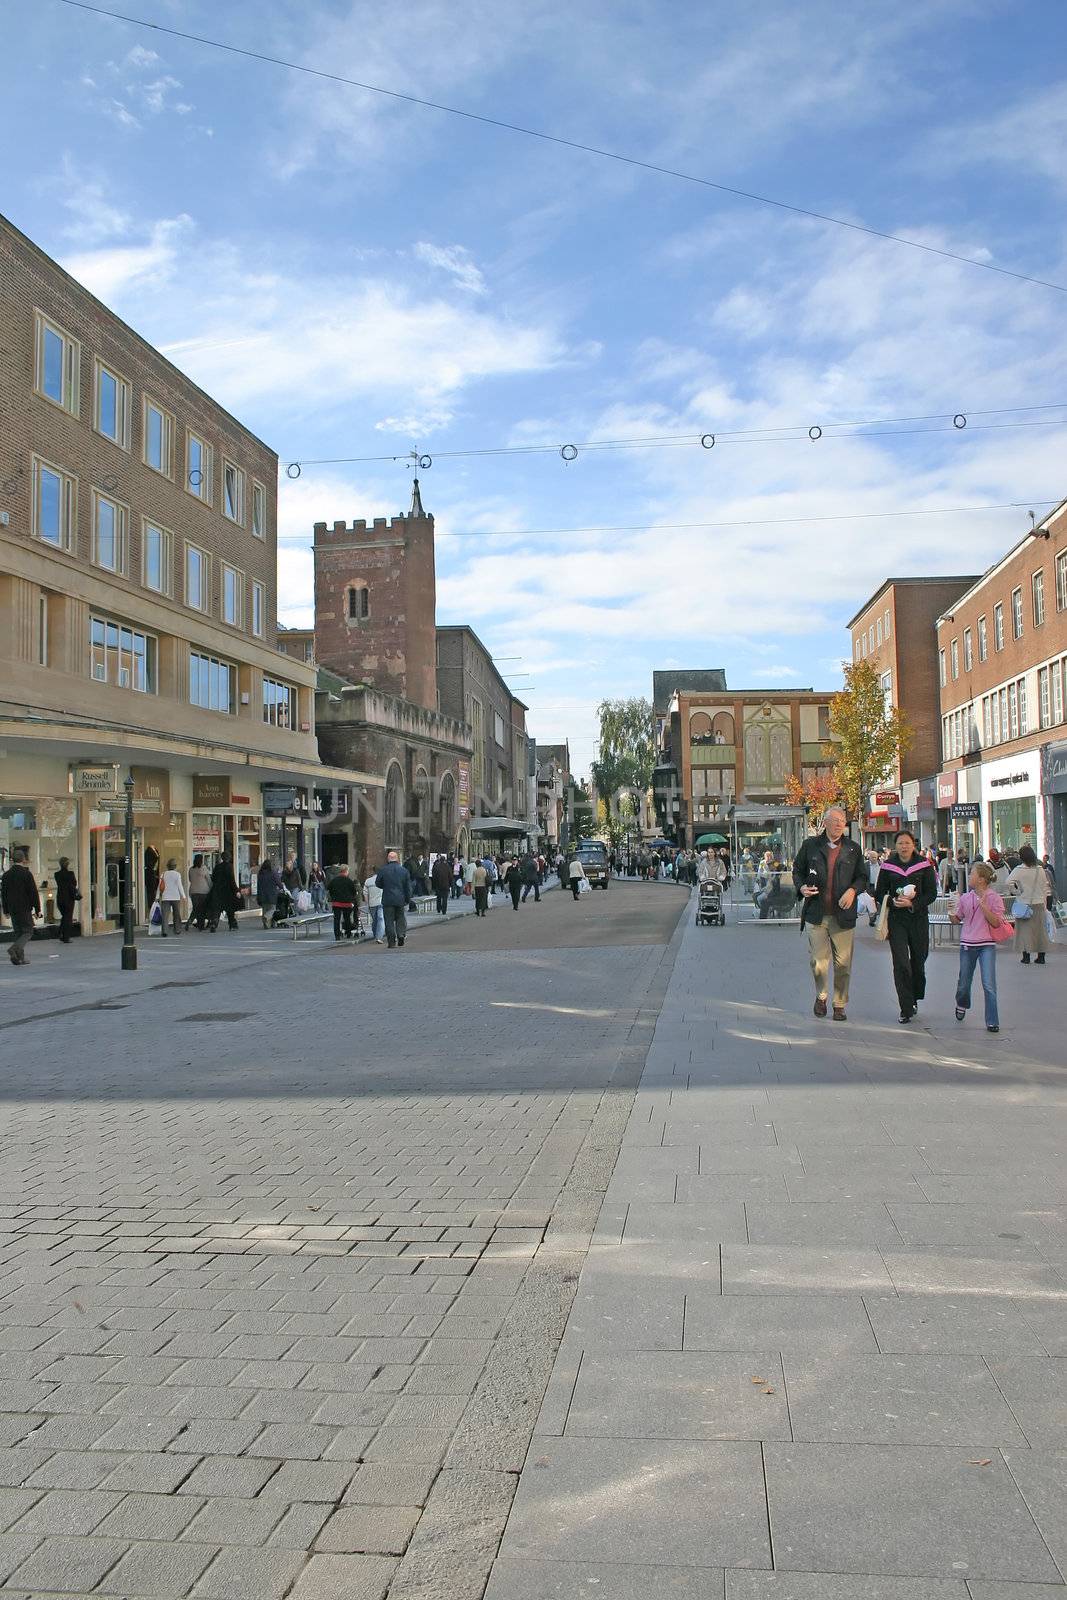
[[[48,602],[42,595],[42,662],[46,661]],[[98,683],[158,693],[158,640],[154,634],[107,616],[90,618],[90,672]],[[189,651],[189,704],[237,715],[237,667],[232,661]],[[274,728],[296,726],[296,690],[277,678],[262,680],[262,720]]]

